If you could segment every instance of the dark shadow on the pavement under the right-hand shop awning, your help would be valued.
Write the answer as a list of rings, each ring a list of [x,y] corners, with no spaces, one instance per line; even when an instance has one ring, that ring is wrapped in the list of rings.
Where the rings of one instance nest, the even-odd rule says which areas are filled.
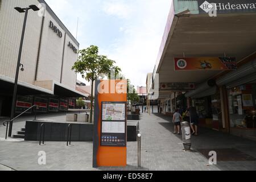
[[[155,115],[159,117],[156,121],[159,121],[160,125],[170,131],[170,133],[174,132],[174,124],[171,122],[170,116],[168,117],[162,114]],[[167,122],[163,122],[163,120]],[[174,136],[179,138],[182,142],[181,135]],[[191,140],[193,150],[203,155],[206,159],[208,159],[207,154],[209,151],[216,151],[217,159],[219,159],[217,167],[221,170],[256,169],[256,142],[254,140],[204,127],[200,127],[199,135],[192,136]]]

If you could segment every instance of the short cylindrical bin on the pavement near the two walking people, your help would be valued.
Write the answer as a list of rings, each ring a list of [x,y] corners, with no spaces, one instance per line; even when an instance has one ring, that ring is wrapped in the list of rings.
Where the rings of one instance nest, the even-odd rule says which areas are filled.
[[[187,121],[181,122],[181,131],[182,131],[184,150],[189,151],[191,150],[191,130],[190,130],[189,122]]]

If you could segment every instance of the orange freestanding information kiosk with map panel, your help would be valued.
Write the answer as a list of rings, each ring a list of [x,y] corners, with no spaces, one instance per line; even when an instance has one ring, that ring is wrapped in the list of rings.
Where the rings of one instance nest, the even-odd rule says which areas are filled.
[[[124,167],[127,159],[127,81],[96,81],[93,167]]]

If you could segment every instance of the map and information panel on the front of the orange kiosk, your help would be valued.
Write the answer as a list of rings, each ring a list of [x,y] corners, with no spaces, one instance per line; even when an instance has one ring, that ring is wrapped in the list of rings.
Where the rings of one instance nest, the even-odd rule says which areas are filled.
[[[101,146],[126,146],[126,102],[102,102]]]

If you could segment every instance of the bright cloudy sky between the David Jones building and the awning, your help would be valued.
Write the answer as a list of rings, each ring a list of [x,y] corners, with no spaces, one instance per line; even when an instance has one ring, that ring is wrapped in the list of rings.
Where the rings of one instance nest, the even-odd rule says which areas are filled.
[[[135,86],[153,71],[171,0],[46,0],[76,37],[80,49],[100,48]],[[82,78],[79,76],[79,80]]]

